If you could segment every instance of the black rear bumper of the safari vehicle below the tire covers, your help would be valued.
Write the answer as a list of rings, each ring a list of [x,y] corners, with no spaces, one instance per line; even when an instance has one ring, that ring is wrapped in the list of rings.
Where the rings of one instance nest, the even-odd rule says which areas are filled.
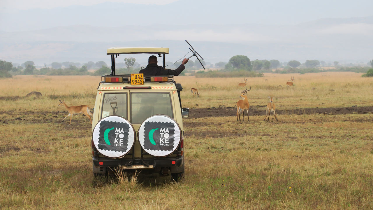
[[[142,163],[141,158],[95,158],[92,157],[93,166],[95,167],[118,167],[122,169],[153,169],[155,167],[182,167],[184,163],[184,157],[166,157],[166,158],[144,158]],[[147,166],[148,164],[148,166]]]

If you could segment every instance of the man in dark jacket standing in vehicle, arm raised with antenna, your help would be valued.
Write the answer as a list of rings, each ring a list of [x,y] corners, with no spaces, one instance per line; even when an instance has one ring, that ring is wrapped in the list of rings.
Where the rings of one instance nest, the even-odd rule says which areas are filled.
[[[146,68],[139,71],[140,74],[144,76],[160,76],[160,75],[179,75],[184,69],[185,64],[188,63],[189,59],[184,58],[180,66],[176,70],[165,69],[162,66],[158,65],[157,56],[152,55],[148,59],[148,65]]]

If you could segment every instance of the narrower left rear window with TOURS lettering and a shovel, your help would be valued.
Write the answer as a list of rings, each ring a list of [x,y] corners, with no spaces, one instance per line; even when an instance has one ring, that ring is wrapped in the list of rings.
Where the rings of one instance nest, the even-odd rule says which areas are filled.
[[[127,93],[105,93],[101,118],[119,115],[127,119]]]

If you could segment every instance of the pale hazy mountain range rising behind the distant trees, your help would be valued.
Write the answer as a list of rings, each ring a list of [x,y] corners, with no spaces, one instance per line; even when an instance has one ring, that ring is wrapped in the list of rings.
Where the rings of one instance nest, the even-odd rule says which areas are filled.
[[[110,11],[113,7],[121,11],[119,15]],[[110,56],[106,55],[109,47],[146,46],[169,47],[167,61],[175,62],[189,51],[185,39],[206,62],[213,64],[226,62],[234,55],[246,55],[251,60],[318,59],[330,63],[366,64],[373,59],[373,16],[317,19],[292,25],[246,24],[242,18],[227,22],[222,16],[216,16],[218,21],[212,22],[205,11],[203,18],[208,21],[202,24],[198,22],[201,16],[189,15],[185,10],[164,15],[167,8],[104,3],[101,8],[2,10],[0,59],[19,64],[31,60],[37,65],[63,61],[109,64]],[[163,15],[157,16],[157,12]],[[178,13],[187,20],[189,15],[192,24],[186,21],[178,24],[177,21],[184,20],[176,16]]]

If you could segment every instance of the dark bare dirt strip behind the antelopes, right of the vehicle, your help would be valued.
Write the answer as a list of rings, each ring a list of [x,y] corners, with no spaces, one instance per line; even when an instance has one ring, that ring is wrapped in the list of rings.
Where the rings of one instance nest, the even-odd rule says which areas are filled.
[[[213,108],[197,108],[189,109],[189,118],[201,117],[226,117],[236,116],[237,109],[235,107],[213,107]],[[351,106],[342,108],[295,108],[295,109],[276,109],[276,114],[289,115],[289,114],[369,114],[373,112],[373,106]],[[249,116],[265,116],[265,107],[255,107],[249,110]],[[242,115],[241,115],[242,117]]]

